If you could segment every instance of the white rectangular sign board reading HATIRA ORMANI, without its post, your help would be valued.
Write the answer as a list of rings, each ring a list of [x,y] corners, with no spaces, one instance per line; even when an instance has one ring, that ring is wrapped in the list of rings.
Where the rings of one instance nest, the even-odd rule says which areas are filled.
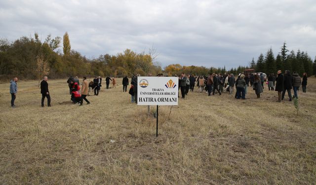
[[[178,77],[137,77],[137,105],[178,105]]]

